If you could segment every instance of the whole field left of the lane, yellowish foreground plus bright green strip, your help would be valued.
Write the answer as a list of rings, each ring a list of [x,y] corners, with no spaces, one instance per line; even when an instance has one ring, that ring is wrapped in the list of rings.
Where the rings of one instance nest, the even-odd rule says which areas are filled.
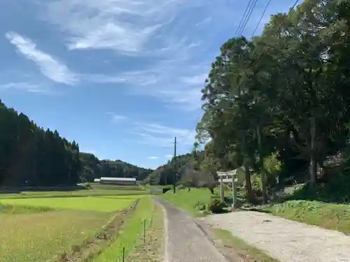
[[[97,194],[91,196],[90,192]],[[142,225],[135,224],[133,214],[125,217],[120,210],[142,198],[145,200],[141,200],[137,212],[152,212],[152,202],[147,193],[139,187],[122,189],[107,186],[72,192],[0,194],[0,261],[55,262],[62,260],[62,254],[69,258],[76,256],[80,250],[89,255],[101,252],[101,247],[108,246],[109,240],[118,233],[123,219],[125,225],[139,226],[137,231],[126,228],[128,233],[124,235],[123,242],[137,238]],[[144,208],[148,209],[145,211]],[[141,219],[138,213],[137,221]],[[108,234],[108,239],[104,240],[103,232]]]

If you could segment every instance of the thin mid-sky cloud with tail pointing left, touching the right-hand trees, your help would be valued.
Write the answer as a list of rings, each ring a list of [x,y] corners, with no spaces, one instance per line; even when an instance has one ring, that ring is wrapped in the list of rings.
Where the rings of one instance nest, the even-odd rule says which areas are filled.
[[[199,110],[202,105],[204,82],[209,63],[183,66],[174,59],[159,62],[144,71],[129,71],[118,75],[90,75],[85,80],[99,83],[123,83],[130,94],[153,96],[164,101],[169,108],[182,111]],[[82,77],[83,78],[83,77]]]

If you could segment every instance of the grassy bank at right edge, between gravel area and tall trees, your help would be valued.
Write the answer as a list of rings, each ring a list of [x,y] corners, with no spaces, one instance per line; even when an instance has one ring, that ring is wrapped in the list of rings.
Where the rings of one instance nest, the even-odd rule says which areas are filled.
[[[263,208],[262,211],[350,234],[350,205],[318,201],[287,201]]]

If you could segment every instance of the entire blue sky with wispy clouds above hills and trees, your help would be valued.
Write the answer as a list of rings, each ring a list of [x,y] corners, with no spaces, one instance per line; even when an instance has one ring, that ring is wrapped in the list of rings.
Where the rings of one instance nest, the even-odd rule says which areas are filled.
[[[250,37],[268,0],[258,0]],[[269,15],[294,0],[272,0]],[[80,151],[148,168],[193,148],[200,89],[248,0],[2,0],[0,99]]]

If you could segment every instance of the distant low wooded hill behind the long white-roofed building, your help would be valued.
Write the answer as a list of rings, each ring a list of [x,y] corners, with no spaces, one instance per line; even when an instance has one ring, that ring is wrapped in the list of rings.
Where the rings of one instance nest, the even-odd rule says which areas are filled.
[[[80,153],[80,161],[83,166],[80,179],[83,182],[92,182],[99,177],[135,177],[144,180],[153,171],[121,160],[99,160],[89,153]]]

